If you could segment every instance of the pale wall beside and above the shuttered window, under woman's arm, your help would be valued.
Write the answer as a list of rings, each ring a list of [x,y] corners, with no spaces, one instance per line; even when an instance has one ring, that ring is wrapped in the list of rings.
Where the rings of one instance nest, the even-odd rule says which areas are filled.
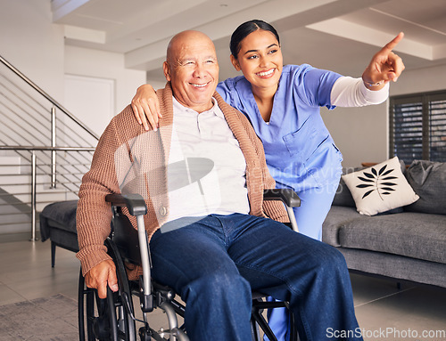
[[[446,65],[405,70],[390,94],[422,93],[446,89]],[[343,166],[381,162],[389,156],[388,101],[363,108],[321,110],[326,127],[343,152]]]

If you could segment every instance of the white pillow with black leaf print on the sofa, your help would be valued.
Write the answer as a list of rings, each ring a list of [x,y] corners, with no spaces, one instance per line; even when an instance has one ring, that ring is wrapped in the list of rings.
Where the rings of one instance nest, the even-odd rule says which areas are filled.
[[[419,199],[402,174],[398,157],[343,175],[343,181],[361,215],[376,215]]]

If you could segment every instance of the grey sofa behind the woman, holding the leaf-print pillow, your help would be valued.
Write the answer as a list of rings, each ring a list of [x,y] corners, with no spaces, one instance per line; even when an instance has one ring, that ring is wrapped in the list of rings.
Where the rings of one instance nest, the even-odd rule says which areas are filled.
[[[341,181],[323,241],[352,271],[446,288],[446,163],[416,160],[404,175],[420,199],[374,216],[359,215]]]

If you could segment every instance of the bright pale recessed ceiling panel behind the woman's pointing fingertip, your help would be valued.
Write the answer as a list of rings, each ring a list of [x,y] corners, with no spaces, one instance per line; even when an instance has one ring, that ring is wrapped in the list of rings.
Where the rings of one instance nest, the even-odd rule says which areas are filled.
[[[392,34],[385,33],[378,29],[368,28],[339,18],[324,20],[307,25],[306,28],[315,29],[319,32],[324,32],[336,37],[343,37],[360,43],[379,47],[383,47],[394,37],[396,37],[396,34],[393,36]],[[397,32],[397,34],[398,33],[399,32]],[[398,44],[394,50],[401,53],[407,53],[418,58],[423,58],[427,61],[434,60],[432,46],[421,44],[407,38],[403,38],[400,44]]]

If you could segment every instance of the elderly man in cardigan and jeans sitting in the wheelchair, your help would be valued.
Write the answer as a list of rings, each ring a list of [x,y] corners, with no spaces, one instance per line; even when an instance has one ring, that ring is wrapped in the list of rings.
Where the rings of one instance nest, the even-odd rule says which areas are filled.
[[[211,39],[179,33],[163,70],[160,129],[145,132],[128,106],[107,126],[83,178],[78,258],[87,286],[100,297],[107,285],[117,290],[103,246],[111,220],[104,197],[138,191],[148,206],[153,278],[186,302],[192,340],[251,340],[252,289],[290,303],[302,340],[361,339],[343,256],[279,223],[284,207],[262,200],[275,183],[252,126],[215,92]]]

